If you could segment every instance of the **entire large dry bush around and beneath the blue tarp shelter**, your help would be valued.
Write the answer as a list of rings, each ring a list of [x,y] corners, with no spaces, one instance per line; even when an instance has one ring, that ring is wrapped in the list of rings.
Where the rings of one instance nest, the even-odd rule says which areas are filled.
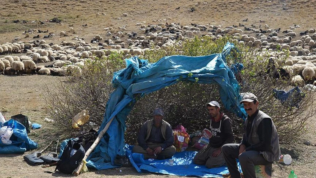
[[[212,41],[208,37],[194,38],[182,44],[182,54],[187,56],[209,55],[222,52],[229,37]],[[308,118],[315,115],[313,106],[314,93],[306,93],[301,101],[301,107],[289,108],[281,105],[280,101],[273,97],[272,89],[288,90],[287,78],[275,79],[272,73],[279,72],[277,67],[267,68],[270,54],[241,44],[236,44],[239,52],[233,50],[226,58],[228,66],[235,63],[244,64],[240,71],[240,92],[252,92],[257,95],[260,109],[273,119],[279,133],[280,142],[287,143],[299,138],[304,133]],[[163,56],[179,54],[179,48],[170,47],[167,50],[146,51],[145,56],[149,62],[155,62]],[[275,61],[283,65],[287,54],[276,55]],[[48,114],[56,120],[56,125],[70,130],[71,118],[82,109],[90,111],[90,121],[85,128],[98,129],[105,112],[105,104],[114,88],[112,76],[114,71],[124,68],[123,56],[111,54],[107,59],[97,59],[87,64],[82,70],[82,76],[69,77],[67,82],[60,83],[55,89],[47,90],[45,95]],[[267,73],[270,71],[270,73]],[[136,96],[135,96],[136,97]],[[219,98],[216,84],[198,84],[179,81],[159,91],[137,98],[137,103],[126,120],[125,140],[129,144],[136,144],[137,133],[145,120],[152,118],[153,108],[161,106],[165,109],[166,120],[175,127],[182,124],[188,133],[202,130],[208,127],[207,111],[204,104]],[[221,106],[223,106],[221,104]],[[236,140],[240,141],[243,134],[243,120],[233,113],[223,111],[232,119]],[[310,110],[308,110],[310,109]]]

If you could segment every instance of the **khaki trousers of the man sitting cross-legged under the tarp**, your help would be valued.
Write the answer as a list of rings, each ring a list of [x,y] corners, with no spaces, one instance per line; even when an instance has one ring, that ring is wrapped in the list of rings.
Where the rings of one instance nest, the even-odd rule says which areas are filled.
[[[152,150],[154,150],[156,147],[158,146],[161,146],[163,144],[154,144],[154,143],[151,143],[151,142],[148,142],[147,143],[147,146],[149,148],[151,148]],[[168,159],[168,158],[171,158],[174,153],[176,152],[176,148],[171,145],[167,148],[165,148],[164,150],[162,150],[160,153],[159,153],[159,156],[160,157],[165,157],[165,159]],[[157,159],[158,155],[152,155],[150,156],[146,150],[144,150],[141,146],[139,145],[135,145],[134,148],[133,148],[133,153],[140,153],[140,154],[143,154],[144,155],[144,159],[149,159],[149,158],[154,158],[154,159]]]

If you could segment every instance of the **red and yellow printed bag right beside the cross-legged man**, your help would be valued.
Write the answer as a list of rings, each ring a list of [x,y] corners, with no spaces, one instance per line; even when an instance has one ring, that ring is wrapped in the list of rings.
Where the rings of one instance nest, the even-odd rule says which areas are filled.
[[[176,151],[182,152],[188,148],[190,135],[186,133],[186,128],[184,128],[184,126],[178,125],[175,129],[173,129],[173,136],[173,145],[176,147]]]

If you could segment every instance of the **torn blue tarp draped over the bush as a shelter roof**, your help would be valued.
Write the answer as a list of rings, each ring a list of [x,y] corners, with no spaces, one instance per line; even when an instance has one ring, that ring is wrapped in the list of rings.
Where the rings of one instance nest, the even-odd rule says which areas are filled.
[[[134,106],[137,94],[144,96],[179,80],[197,83],[217,83],[224,107],[245,119],[239,106],[239,85],[233,72],[226,64],[234,44],[227,43],[222,53],[208,56],[166,56],[156,63],[132,57],[126,59],[126,68],[114,73],[116,90],[106,104],[104,120],[99,132],[114,117],[106,134],[88,157],[88,166],[96,169],[119,167],[114,165],[116,155],[124,155],[125,120]],[[151,111],[148,111],[151,112]]]

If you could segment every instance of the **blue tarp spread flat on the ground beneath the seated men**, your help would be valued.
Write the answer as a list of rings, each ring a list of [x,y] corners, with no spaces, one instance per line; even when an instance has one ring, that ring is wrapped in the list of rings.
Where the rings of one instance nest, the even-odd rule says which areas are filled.
[[[168,175],[194,175],[199,177],[222,177],[222,174],[229,173],[225,165],[219,168],[208,169],[204,165],[197,165],[192,163],[192,160],[197,151],[176,152],[172,157],[172,159],[174,160],[174,165],[169,166],[168,160],[155,159],[154,161],[150,162],[148,160],[144,160],[144,156],[142,154],[132,153],[131,150],[132,146],[128,146],[128,149],[126,150],[126,155],[129,157],[133,167],[139,173],[155,172]],[[238,167],[240,169],[239,162]]]

